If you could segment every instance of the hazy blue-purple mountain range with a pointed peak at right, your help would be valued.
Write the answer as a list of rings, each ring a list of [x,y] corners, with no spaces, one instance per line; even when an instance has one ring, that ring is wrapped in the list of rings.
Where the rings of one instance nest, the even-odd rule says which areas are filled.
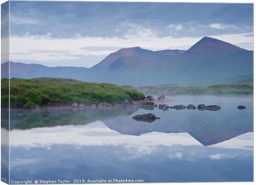
[[[8,77],[8,62],[1,64],[1,67],[1,77]],[[91,68],[46,67],[10,62],[11,78],[69,78],[122,86],[168,83],[187,86],[190,83],[221,81],[241,75],[251,76],[250,80],[253,79],[252,74],[253,51],[211,37],[203,37],[187,51],[123,48],[109,54]]]

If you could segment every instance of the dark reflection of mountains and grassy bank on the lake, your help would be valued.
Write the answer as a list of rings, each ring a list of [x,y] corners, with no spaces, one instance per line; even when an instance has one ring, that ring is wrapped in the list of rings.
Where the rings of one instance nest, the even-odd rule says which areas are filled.
[[[137,122],[132,117],[152,112],[161,119],[152,123]],[[7,113],[2,112],[2,127],[8,125]],[[85,125],[101,120],[109,129],[140,136],[149,132],[187,132],[204,146],[210,146],[232,139],[247,132],[253,132],[252,109],[239,111],[223,106],[221,111],[161,111],[158,109],[85,109],[81,111],[56,111],[41,113],[11,112],[11,130],[29,130],[38,127],[64,125]]]

